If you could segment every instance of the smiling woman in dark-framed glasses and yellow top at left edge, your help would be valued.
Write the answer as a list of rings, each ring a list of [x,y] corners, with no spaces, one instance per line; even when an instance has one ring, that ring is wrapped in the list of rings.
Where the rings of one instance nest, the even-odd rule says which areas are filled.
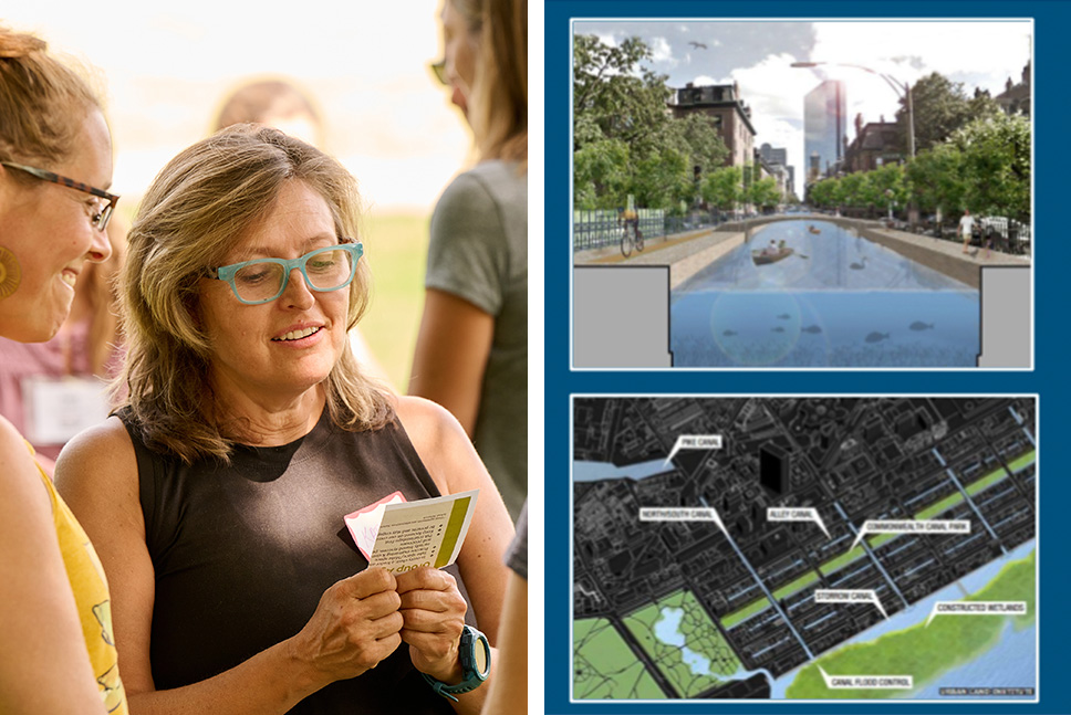
[[[0,27],[0,336],[42,343],[66,319],[86,263],[112,253],[117,197],[91,186],[111,180],[100,99],[43,41]],[[0,495],[0,713],[125,714],[96,553],[2,417]]]

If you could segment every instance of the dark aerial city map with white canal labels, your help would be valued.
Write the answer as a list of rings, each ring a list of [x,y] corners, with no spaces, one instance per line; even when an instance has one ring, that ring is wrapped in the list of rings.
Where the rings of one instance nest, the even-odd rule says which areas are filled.
[[[1034,397],[574,397],[574,701],[1037,694]]]

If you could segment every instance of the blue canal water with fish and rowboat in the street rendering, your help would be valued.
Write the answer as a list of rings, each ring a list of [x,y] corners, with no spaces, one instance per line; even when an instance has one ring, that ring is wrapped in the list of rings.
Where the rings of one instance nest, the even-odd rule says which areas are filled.
[[[755,264],[781,241],[792,255]],[[782,221],[674,291],[669,333],[674,367],[976,367],[980,307],[977,290],[854,231]]]

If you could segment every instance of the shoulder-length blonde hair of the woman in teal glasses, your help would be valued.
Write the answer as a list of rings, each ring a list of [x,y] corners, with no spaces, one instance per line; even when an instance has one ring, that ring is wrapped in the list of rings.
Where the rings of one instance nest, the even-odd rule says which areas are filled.
[[[200,326],[199,282],[222,265],[268,214],[287,181],[326,201],[339,236],[357,236],[356,180],[337,161],[278,129],[236,125],[198,141],[164,167],[127,236],[121,282],[127,360],[116,380],[147,444],[190,463],[228,461],[241,428],[215,404],[211,343]],[[368,301],[367,264],[350,285],[347,328]],[[349,341],[323,382],[332,421],[350,431],[393,418],[388,393],[358,370]]]

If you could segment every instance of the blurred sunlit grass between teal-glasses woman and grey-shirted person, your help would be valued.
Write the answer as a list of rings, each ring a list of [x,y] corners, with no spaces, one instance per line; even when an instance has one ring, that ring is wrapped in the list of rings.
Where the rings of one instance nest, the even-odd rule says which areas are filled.
[[[372,304],[360,328],[396,390],[405,393],[424,311],[430,215],[386,213],[365,218],[365,257]]]

